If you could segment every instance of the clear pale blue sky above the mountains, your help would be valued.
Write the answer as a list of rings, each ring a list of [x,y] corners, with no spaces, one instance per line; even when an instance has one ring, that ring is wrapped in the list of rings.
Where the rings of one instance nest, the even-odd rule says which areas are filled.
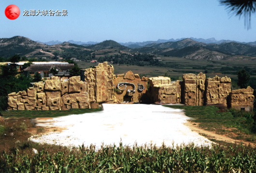
[[[16,20],[5,8],[20,9]],[[23,16],[25,10],[67,10],[68,16]],[[182,37],[256,41],[256,15],[251,29],[230,16],[219,0],[1,0],[0,38],[24,36],[43,42],[115,40],[142,42]]]

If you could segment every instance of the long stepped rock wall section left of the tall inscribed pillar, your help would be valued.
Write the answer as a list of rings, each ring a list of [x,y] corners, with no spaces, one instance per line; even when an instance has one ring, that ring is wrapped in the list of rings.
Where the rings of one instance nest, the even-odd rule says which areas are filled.
[[[35,83],[27,91],[8,95],[9,110],[68,110],[70,108],[89,108],[85,82],[80,76],[61,81],[52,77],[45,83]],[[63,88],[63,89],[62,89]]]

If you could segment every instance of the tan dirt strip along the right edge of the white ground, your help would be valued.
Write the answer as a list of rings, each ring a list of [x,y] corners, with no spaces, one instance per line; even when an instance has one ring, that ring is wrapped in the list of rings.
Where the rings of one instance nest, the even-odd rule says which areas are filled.
[[[195,123],[195,122],[191,122],[191,121],[187,121],[187,123],[185,123],[185,125],[187,125],[192,131],[197,132],[199,135],[201,136],[205,136],[210,140],[216,140],[216,141],[224,141],[224,142],[228,142],[228,143],[236,143],[236,144],[244,144],[246,146],[252,146],[254,148],[256,148],[256,144],[252,143],[252,142],[248,142],[245,140],[240,140],[240,139],[233,139],[230,138],[228,136],[234,136],[235,134],[232,132],[226,132],[225,135],[220,135],[217,134],[214,131],[207,131],[204,130],[202,128],[199,127],[199,123]]]

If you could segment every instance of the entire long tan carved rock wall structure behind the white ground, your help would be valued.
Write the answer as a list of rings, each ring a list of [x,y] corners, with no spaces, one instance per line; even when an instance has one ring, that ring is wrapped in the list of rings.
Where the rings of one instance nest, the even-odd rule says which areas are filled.
[[[183,103],[190,106],[222,105],[250,111],[253,109],[253,89],[231,91],[228,77],[206,78],[205,74],[184,74],[183,81],[169,77],[142,77],[128,71],[114,75],[107,62],[83,70],[80,76],[53,76],[35,83],[26,91],[8,95],[9,110],[68,110],[99,108],[102,103]],[[81,80],[83,79],[83,80]]]

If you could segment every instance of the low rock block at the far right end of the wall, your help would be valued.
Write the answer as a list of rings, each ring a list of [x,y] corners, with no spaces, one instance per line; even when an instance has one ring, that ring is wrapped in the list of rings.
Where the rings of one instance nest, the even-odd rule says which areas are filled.
[[[237,110],[252,111],[253,110],[253,88],[248,86],[246,89],[232,90],[230,93],[229,106]]]

